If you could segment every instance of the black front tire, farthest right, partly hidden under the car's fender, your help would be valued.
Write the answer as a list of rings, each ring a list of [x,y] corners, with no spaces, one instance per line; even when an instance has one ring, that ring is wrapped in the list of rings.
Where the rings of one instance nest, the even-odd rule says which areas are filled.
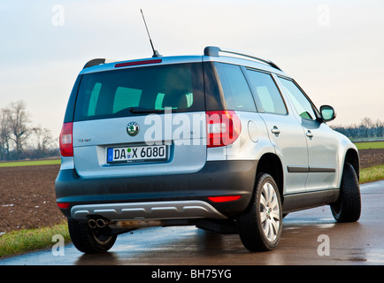
[[[344,164],[339,200],[331,204],[331,210],[337,222],[355,222],[360,218],[360,187],[355,169],[349,163]]]

